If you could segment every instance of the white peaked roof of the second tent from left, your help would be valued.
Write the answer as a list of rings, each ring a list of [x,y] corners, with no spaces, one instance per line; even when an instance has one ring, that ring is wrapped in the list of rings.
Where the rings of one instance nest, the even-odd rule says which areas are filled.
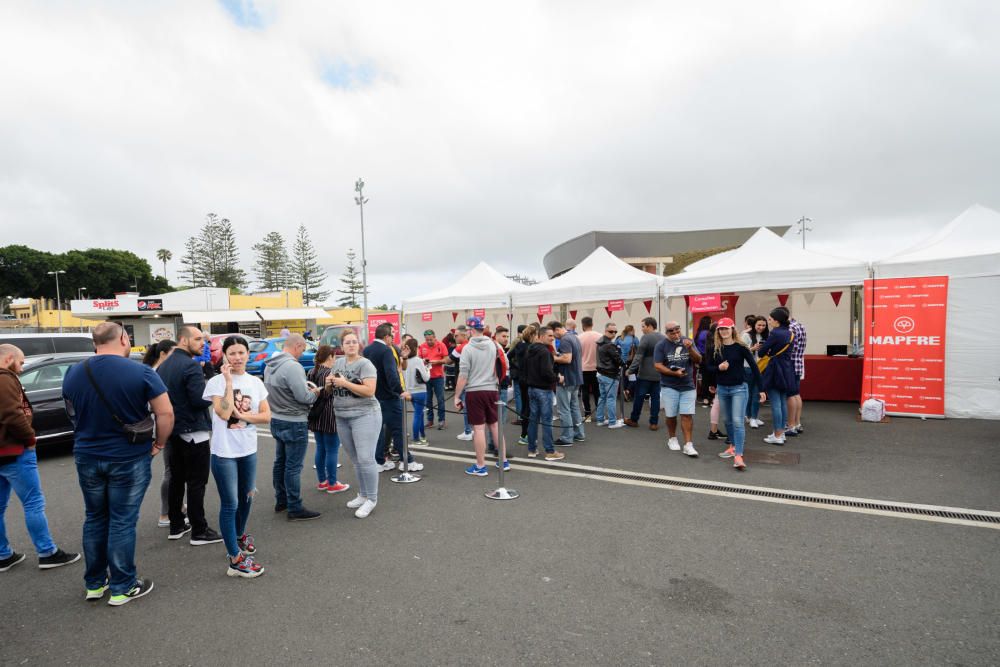
[[[660,279],[626,264],[604,246],[575,267],[514,295],[515,306],[655,299]]]

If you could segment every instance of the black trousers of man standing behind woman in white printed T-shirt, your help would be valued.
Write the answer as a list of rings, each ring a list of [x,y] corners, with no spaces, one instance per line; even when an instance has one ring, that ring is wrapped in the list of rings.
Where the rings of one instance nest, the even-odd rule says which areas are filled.
[[[188,520],[191,522],[191,532],[200,535],[208,528],[205,521],[205,485],[208,484],[208,471],[212,463],[212,449],[208,440],[204,442],[185,442],[179,436],[172,435],[167,440],[165,452],[170,465],[170,488],[167,492],[167,505],[170,508],[170,532],[179,533],[184,530],[184,487],[187,487]]]

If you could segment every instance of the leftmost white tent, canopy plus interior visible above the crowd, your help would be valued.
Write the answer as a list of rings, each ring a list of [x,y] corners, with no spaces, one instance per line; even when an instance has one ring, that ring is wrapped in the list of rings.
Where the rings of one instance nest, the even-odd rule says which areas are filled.
[[[486,323],[496,329],[508,325],[511,295],[526,289],[486,262],[479,262],[452,285],[403,300],[403,321],[406,331],[420,338],[426,329],[443,337],[474,314],[485,311]],[[425,315],[426,314],[426,315]],[[424,319],[428,317],[429,319]]]

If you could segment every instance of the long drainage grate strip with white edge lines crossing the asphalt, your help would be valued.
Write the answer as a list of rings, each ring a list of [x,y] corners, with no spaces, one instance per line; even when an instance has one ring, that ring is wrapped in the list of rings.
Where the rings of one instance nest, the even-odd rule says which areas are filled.
[[[474,458],[475,454],[461,450],[446,449],[443,447],[421,447],[424,451],[441,452],[445,454],[457,455],[466,458]],[[487,457],[495,459],[496,457]],[[779,500],[790,500],[811,505],[826,505],[833,507],[849,507],[853,509],[874,510],[879,512],[891,512],[911,516],[936,517],[940,519],[953,519],[956,521],[970,521],[981,524],[1000,525],[1000,513],[979,512],[979,511],[953,511],[951,509],[936,509],[932,507],[910,505],[906,503],[878,502],[869,500],[852,500],[849,498],[838,498],[835,496],[812,495],[805,493],[793,493],[786,491],[776,491],[773,489],[755,488],[752,486],[739,486],[735,484],[723,484],[716,482],[702,482],[681,479],[677,477],[658,477],[654,475],[643,475],[641,473],[620,472],[616,470],[606,470],[603,468],[590,468],[576,464],[550,463],[535,459],[519,459],[518,463],[531,466],[564,470],[566,472],[586,475],[587,477],[627,479],[635,482],[656,484],[663,487],[674,487],[682,489],[697,489],[702,491],[716,491],[731,493],[737,496],[748,496],[756,498],[776,498]],[[956,508],[957,509],[957,508]]]

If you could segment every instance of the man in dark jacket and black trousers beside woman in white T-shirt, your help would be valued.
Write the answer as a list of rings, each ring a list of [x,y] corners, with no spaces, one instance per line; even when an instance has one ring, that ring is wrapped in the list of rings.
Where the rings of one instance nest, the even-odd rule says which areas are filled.
[[[191,544],[215,544],[222,535],[208,527],[205,520],[205,485],[211,465],[212,450],[209,438],[212,423],[208,408],[212,401],[205,400],[205,375],[195,357],[201,354],[205,340],[197,327],[182,326],[177,336],[177,347],[157,367],[167,395],[174,408],[174,430],[167,441],[167,464],[170,466],[170,487],[167,505],[170,508],[170,534],[168,539],[179,540],[189,531]],[[189,525],[184,524],[184,487],[187,486]]]

